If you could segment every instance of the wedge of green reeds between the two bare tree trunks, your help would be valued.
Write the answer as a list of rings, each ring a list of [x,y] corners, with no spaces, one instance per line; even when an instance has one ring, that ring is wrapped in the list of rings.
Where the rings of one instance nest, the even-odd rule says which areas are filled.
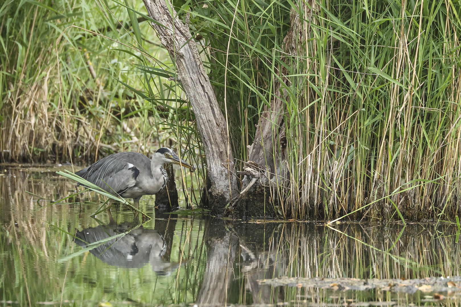
[[[239,1],[236,7],[236,1],[188,2],[192,37],[204,46],[216,97],[230,119],[235,155],[246,161],[246,146],[253,142],[255,124],[274,99],[274,81],[283,63],[281,46],[290,29],[290,4]],[[178,13],[184,19],[182,7]]]

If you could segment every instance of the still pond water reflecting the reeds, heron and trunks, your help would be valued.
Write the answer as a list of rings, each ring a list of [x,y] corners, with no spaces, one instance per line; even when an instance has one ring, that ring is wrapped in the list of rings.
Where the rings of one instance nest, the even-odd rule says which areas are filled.
[[[139,225],[124,206],[113,208],[112,216],[91,217],[104,201],[92,193],[50,205],[47,199],[75,192],[75,185],[55,171],[0,168],[0,306],[461,302],[461,281],[452,278],[461,268],[454,224],[326,227],[319,222],[218,220],[160,213],[154,198],[145,197],[140,209],[153,219]],[[306,284],[296,277],[318,278]],[[444,277],[441,284],[449,290],[434,293],[416,284],[414,290],[399,292],[386,281],[381,288],[359,291],[327,279],[361,278],[354,282],[363,286],[371,278],[403,282],[426,277]]]

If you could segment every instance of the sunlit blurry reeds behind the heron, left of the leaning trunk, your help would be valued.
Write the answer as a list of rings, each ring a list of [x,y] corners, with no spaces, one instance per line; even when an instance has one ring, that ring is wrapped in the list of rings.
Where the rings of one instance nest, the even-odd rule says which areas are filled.
[[[183,122],[191,123],[179,104],[152,104],[127,86],[142,87],[147,65],[172,67],[148,23],[129,12],[102,0],[2,4],[1,161],[94,162],[117,151],[149,155],[183,138],[194,144],[194,135],[183,133]],[[135,29],[143,32],[139,42]],[[155,61],[139,65],[141,52]],[[177,91],[165,75],[157,81],[152,96]]]

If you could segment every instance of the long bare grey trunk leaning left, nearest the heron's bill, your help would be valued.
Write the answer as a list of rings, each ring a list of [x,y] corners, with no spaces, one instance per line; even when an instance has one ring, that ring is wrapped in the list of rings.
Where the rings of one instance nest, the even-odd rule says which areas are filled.
[[[237,192],[237,181],[233,175],[232,156],[225,118],[203,67],[201,57],[190,31],[178,18],[170,0],[143,0],[149,16],[158,23],[151,23],[177,67],[178,81],[189,98],[195,113],[205,154],[207,156],[207,176],[211,186],[207,186],[209,208],[220,213],[225,204]],[[173,12],[170,12],[170,9]]]

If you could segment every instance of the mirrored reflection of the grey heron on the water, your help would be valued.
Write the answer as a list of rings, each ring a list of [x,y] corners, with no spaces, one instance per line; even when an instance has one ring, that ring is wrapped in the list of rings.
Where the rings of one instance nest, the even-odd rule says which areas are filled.
[[[75,242],[87,247],[90,243],[129,231],[123,237],[116,237],[90,250],[91,254],[111,266],[140,268],[149,263],[157,274],[170,275],[178,264],[165,261],[165,238],[154,229],[142,226],[133,229],[134,225],[124,223],[85,228],[77,231]]]

